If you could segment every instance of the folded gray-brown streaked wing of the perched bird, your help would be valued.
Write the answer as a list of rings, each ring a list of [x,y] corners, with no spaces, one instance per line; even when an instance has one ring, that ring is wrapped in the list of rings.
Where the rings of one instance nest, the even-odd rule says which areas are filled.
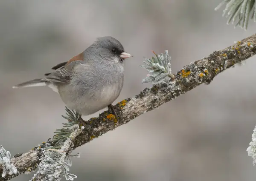
[[[44,80],[51,83],[67,83],[69,82],[71,76],[73,75],[72,69],[75,65],[78,63],[81,63],[82,60],[73,61],[70,63],[63,63],[63,66],[60,66],[58,64],[57,66],[60,66],[58,69],[56,69],[54,72],[45,74]]]

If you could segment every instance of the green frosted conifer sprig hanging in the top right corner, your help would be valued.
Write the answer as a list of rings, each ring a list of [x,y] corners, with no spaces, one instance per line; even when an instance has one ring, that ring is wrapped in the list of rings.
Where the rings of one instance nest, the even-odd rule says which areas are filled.
[[[220,9],[225,3],[226,7],[223,11],[223,15],[228,18],[227,24],[232,24],[237,21],[236,26],[240,26],[242,29],[247,30],[248,22],[250,19],[254,19],[256,22],[256,0],[223,0],[216,8],[215,11]]]

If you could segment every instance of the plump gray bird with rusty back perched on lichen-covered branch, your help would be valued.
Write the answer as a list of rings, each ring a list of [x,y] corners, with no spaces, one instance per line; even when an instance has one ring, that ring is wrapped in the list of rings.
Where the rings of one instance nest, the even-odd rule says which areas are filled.
[[[114,37],[98,37],[84,52],[52,67],[44,78],[29,80],[12,88],[48,86],[64,104],[81,115],[108,106],[118,120],[112,103],[124,82],[124,61],[133,57]]]

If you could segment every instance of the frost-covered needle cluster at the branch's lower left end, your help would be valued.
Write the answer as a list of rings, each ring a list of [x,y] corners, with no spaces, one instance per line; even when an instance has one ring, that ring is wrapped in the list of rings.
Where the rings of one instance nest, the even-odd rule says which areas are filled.
[[[9,151],[6,151],[2,145],[0,145],[0,165],[3,166],[2,177],[6,176],[6,173],[9,175],[16,174],[17,168],[11,163],[12,156]]]

